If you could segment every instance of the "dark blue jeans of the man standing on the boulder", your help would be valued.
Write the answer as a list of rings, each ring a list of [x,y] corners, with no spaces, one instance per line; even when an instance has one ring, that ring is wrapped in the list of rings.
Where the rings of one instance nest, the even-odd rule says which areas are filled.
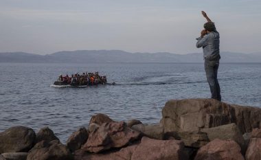
[[[211,91],[211,98],[221,101],[220,87],[218,84],[219,60],[205,60],[205,72]]]

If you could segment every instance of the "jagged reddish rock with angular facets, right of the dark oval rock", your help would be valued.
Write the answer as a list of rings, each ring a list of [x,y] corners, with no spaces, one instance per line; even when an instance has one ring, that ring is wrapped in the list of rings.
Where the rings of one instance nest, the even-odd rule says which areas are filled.
[[[104,123],[90,133],[82,149],[89,152],[101,152],[110,148],[121,148],[139,137],[140,133],[128,128],[125,122]]]

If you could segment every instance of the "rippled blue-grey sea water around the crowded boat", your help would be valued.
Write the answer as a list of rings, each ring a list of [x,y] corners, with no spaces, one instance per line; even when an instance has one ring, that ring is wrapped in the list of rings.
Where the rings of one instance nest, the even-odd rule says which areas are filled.
[[[51,87],[60,73],[83,71],[116,85]],[[261,63],[223,63],[218,71],[224,102],[261,107]],[[95,113],[157,123],[168,100],[210,96],[203,63],[0,63],[0,78],[0,132],[49,126],[63,142]]]

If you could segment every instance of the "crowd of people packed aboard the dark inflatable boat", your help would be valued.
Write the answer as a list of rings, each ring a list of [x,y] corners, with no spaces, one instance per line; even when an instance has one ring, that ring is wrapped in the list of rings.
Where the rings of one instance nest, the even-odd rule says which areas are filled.
[[[72,74],[71,77],[68,75],[60,75],[58,82],[62,84],[71,84],[73,86],[81,85],[95,85],[95,84],[107,84],[106,76],[100,76],[99,72],[95,73],[82,73],[82,74]]]

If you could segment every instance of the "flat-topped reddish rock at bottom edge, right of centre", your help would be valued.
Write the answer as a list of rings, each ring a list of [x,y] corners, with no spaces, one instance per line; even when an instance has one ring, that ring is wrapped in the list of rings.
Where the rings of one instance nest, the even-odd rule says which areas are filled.
[[[183,152],[183,142],[177,140],[157,140],[143,137],[131,156],[131,160],[187,160]]]

